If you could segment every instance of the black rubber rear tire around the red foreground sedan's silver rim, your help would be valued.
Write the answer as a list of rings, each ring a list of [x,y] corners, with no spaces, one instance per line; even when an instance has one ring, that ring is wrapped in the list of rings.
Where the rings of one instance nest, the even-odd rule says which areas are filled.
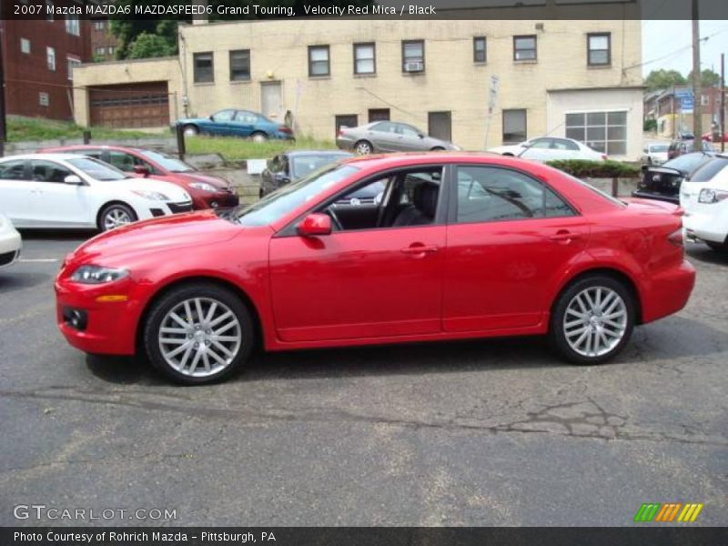
[[[617,295],[619,295],[620,298],[622,298],[622,302],[624,304],[625,324],[623,326],[622,338],[619,339],[619,341],[607,352],[599,355],[584,355],[576,349],[573,349],[569,340],[567,339],[566,332],[564,331],[566,329],[565,317],[569,305],[574,298],[576,298],[578,295],[582,294],[584,290],[587,290],[589,288],[607,288],[609,290],[612,290]],[[622,349],[624,349],[624,347],[630,340],[630,337],[632,336],[632,329],[634,329],[635,309],[636,302],[634,301],[634,295],[632,293],[632,290],[626,287],[620,280],[600,274],[594,274],[579,278],[576,281],[572,282],[571,285],[569,285],[567,288],[564,288],[561,291],[559,298],[557,298],[556,303],[552,308],[549,324],[549,337],[551,340],[551,346],[561,355],[561,357],[568,360],[572,364],[601,364],[602,362],[613,359],[620,352],[622,352]],[[569,316],[571,317],[571,313]],[[588,352],[588,350],[584,352]]]

